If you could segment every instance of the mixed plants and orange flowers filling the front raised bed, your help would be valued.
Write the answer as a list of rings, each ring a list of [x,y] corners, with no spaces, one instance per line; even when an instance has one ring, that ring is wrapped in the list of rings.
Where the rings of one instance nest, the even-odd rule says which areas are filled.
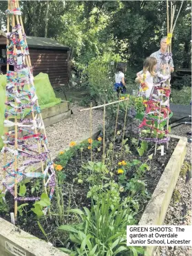
[[[67,151],[61,147],[52,204],[41,190],[43,181],[19,184],[21,196],[40,200],[19,204],[17,226],[70,255],[143,255],[142,248],[126,246],[126,226],[138,224],[177,141],[170,141],[166,155],[154,156],[154,145],[138,137],[143,99],[120,99],[125,98],[129,101],[107,107],[96,139],[72,141]],[[13,199],[2,197],[1,216],[10,219]],[[47,207],[50,215],[43,215]]]

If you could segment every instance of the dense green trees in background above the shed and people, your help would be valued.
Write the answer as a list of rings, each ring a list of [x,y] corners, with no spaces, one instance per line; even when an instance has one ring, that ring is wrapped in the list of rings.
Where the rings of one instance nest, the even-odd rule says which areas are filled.
[[[176,12],[181,1],[172,1]],[[166,1],[21,1],[27,35],[50,37],[70,46],[74,66],[83,69],[106,52],[120,55],[131,68],[158,50],[167,35]],[[5,29],[0,1],[0,25]],[[191,1],[184,1],[173,32],[173,60],[177,68],[191,63]]]

